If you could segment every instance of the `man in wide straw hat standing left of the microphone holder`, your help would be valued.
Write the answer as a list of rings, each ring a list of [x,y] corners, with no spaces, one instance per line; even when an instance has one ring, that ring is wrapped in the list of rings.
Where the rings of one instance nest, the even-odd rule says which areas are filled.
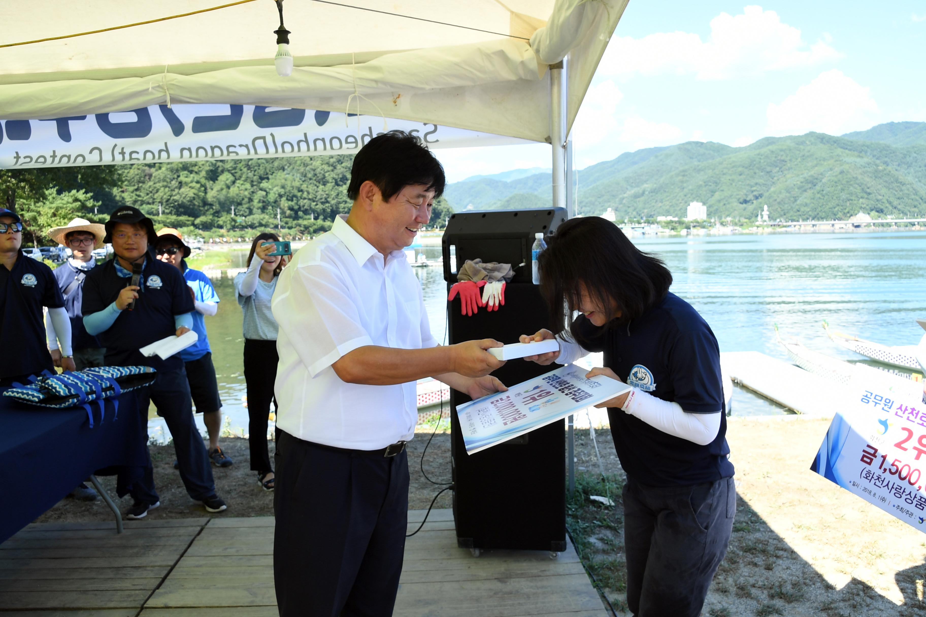
[[[103,246],[106,229],[99,223],[91,223],[85,218],[75,218],[64,227],[48,230],[48,237],[58,244],[70,249],[70,259],[59,265],[53,272],[58,289],[64,295],[64,308],[70,318],[71,345],[74,348],[74,367],[81,371],[90,366],[104,365],[104,352],[99,339],[83,327],[81,301],[83,298],[83,280],[96,265],[94,249]],[[48,333],[48,349],[56,366],[61,365],[61,351],[58,349],[55,324],[51,313],[45,316],[45,329]],[[82,483],[70,492],[70,496],[81,501],[93,501],[96,491]]]

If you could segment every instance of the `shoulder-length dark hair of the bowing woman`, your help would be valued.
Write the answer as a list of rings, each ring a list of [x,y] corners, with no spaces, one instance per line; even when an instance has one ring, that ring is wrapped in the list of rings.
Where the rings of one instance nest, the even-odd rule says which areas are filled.
[[[540,253],[540,292],[550,306],[555,334],[567,329],[578,309],[582,286],[605,307],[608,324],[627,323],[661,302],[672,284],[669,269],[657,257],[633,246],[618,226],[601,218],[572,218],[545,239]],[[611,301],[617,302],[615,320]],[[569,334],[576,332],[569,326]]]

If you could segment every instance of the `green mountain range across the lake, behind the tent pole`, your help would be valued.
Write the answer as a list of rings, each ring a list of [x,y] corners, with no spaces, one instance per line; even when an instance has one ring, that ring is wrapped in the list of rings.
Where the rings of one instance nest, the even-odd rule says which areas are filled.
[[[755,218],[766,204],[784,220],[845,219],[859,211],[911,216],[926,213],[926,123],[879,125],[843,137],[770,137],[742,148],[713,142],[647,148],[586,167],[577,181],[579,214],[613,208],[619,219],[682,217],[690,202],[706,204],[711,218]],[[457,210],[552,201],[550,174],[457,182],[444,194]]]

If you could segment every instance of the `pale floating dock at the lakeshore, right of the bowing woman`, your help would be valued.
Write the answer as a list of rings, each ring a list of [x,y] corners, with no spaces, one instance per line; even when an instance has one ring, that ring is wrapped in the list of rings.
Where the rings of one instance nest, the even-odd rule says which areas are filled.
[[[723,372],[796,413],[831,417],[842,400],[839,384],[761,352],[722,352]]]

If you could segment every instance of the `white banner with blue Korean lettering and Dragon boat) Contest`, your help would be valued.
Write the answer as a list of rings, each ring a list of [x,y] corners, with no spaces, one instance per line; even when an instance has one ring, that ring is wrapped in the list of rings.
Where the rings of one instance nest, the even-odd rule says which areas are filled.
[[[327,111],[152,105],[112,114],[0,122],[0,168],[354,154],[376,135],[394,129],[418,135],[429,148],[530,143],[430,123]]]

